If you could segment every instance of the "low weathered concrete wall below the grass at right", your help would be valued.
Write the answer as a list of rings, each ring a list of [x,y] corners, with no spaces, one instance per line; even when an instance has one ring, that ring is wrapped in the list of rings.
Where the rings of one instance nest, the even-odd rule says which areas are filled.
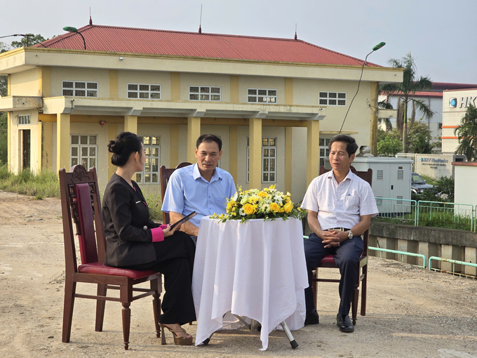
[[[427,260],[431,256],[437,256],[467,263],[477,263],[477,234],[475,232],[372,222],[368,245],[419,253],[425,255]],[[379,251],[370,250],[368,253],[370,256],[381,255]],[[382,257],[412,265],[422,265],[422,258],[384,252]],[[432,261],[432,267],[452,271],[452,264],[450,263]],[[477,275],[477,267],[455,265],[455,271]]]

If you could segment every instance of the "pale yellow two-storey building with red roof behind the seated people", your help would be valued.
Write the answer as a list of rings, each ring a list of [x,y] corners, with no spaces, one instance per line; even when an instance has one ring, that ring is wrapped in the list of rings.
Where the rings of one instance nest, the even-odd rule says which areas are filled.
[[[213,132],[237,185],[276,183],[301,200],[362,68],[342,129],[358,145],[375,140],[378,83],[403,79],[402,69],[363,63],[298,39],[87,25],[0,55],[8,166],[95,166],[105,187],[115,170],[107,142],[132,131],[147,151],[137,182],[157,192],[159,167],[194,162],[196,139]]]

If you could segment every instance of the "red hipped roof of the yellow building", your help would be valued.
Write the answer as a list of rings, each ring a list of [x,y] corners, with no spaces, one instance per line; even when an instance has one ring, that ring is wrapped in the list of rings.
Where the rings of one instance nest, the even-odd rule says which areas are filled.
[[[316,63],[362,66],[363,60],[302,40],[274,39],[199,32],[178,32],[156,29],[135,29],[87,25],[79,32],[86,40],[86,49],[121,53],[147,53],[200,58],[227,58],[273,62]],[[79,34],[67,33],[34,47],[83,50]],[[369,66],[378,66],[368,62]]]

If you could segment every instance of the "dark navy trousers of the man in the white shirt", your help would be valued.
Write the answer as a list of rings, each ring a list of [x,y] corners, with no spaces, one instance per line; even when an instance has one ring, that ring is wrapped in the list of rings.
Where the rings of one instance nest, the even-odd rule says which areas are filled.
[[[340,314],[349,314],[349,309],[354,297],[354,287],[358,279],[359,269],[358,260],[363,253],[363,239],[354,236],[352,239],[347,239],[340,243],[340,246],[325,248],[322,240],[311,233],[308,239],[304,240],[304,256],[307,260],[308,284],[309,287],[304,290],[304,298],[307,303],[307,313],[313,312],[314,300],[313,291],[311,290],[311,279],[313,277],[313,270],[316,269],[318,263],[323,260],[325,256],[335,256],[335,263],[340,268]],[[315,293],[316,294],[316,293]]]

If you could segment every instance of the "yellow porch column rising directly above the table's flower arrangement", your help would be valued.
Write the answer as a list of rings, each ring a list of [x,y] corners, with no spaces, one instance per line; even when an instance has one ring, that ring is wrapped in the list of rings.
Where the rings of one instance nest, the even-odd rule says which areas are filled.
[[[248,120],[248,188],[262,189],[262,119]]]

